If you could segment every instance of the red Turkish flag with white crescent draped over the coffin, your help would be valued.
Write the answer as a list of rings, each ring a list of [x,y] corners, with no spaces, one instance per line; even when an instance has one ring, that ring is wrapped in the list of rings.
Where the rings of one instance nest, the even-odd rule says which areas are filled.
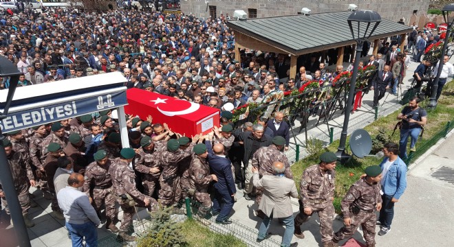
[[[126,94],[127,114],[138,115],[140,119],[147,119],[151,115],[153,123],[166,123],[173,132],[186,137],[208,134],[213,126],[219,126],[219,110],[216,108],[143,89],[128,89]]]

